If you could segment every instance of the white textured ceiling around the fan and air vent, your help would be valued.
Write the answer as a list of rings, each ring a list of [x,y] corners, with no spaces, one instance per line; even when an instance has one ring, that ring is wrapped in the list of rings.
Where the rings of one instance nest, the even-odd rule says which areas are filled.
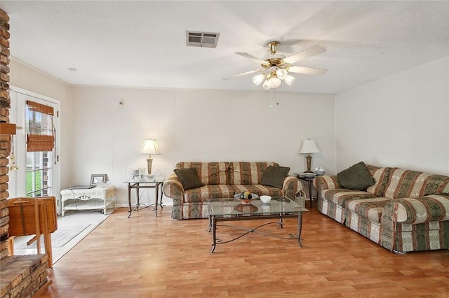
[[[0,1],[11,56],[74,85],[262,90],[260,64],[234,52],[327,52],[295,65],[280,91],[339,93],[449,55],[449,1]],[[185,31],[219,32],[217,48],[187,48]],[[70,67],[76,72],[70,72]]]

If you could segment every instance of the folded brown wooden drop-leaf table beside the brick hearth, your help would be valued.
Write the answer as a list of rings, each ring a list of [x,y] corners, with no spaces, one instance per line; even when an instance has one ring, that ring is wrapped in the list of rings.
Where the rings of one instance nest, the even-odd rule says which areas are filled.
[[[9,209],[8,252],[14,253],[14,236],[35,235],[37,253],[41,253],[41,235],[48,255],[48,267],[53,267],[51,233],[58,229],[55,197],[6,199]]]

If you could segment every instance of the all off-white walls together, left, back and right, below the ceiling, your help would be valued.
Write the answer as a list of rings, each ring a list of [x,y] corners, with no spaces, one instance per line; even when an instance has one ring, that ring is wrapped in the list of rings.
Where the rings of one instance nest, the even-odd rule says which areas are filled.
[[[126,169],[144,167],[145,138],[159,141],[153,171],[176,162],[274,160],[304,171],[297,154],[315,139],[312,167],[337,173],[360,160],[449,175],[449,57],[331,94],[147,90],[70,86],[11,60],[11,85],[61,101],[61,187],[107,173],[126,204]],[[119,101],[123,100],[123,108]],[[145,194],[154,200],[152,194]],[[166,199],[164,199],[166,200]]]

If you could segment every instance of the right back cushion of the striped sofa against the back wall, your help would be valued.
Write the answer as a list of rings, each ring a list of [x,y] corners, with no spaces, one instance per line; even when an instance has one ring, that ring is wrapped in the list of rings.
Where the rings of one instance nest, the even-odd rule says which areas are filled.
[[[229,185],[262,183],[268,166],[279,166],[276,162],[231,162],[229,163]]]

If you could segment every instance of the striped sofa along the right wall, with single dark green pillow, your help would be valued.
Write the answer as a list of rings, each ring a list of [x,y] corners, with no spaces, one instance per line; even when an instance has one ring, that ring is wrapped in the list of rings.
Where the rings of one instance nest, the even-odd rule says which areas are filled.
[[[348,190],[314,180],[321,213],[397,253],[449,248],[449,177],[366,165],[375,184]]]

